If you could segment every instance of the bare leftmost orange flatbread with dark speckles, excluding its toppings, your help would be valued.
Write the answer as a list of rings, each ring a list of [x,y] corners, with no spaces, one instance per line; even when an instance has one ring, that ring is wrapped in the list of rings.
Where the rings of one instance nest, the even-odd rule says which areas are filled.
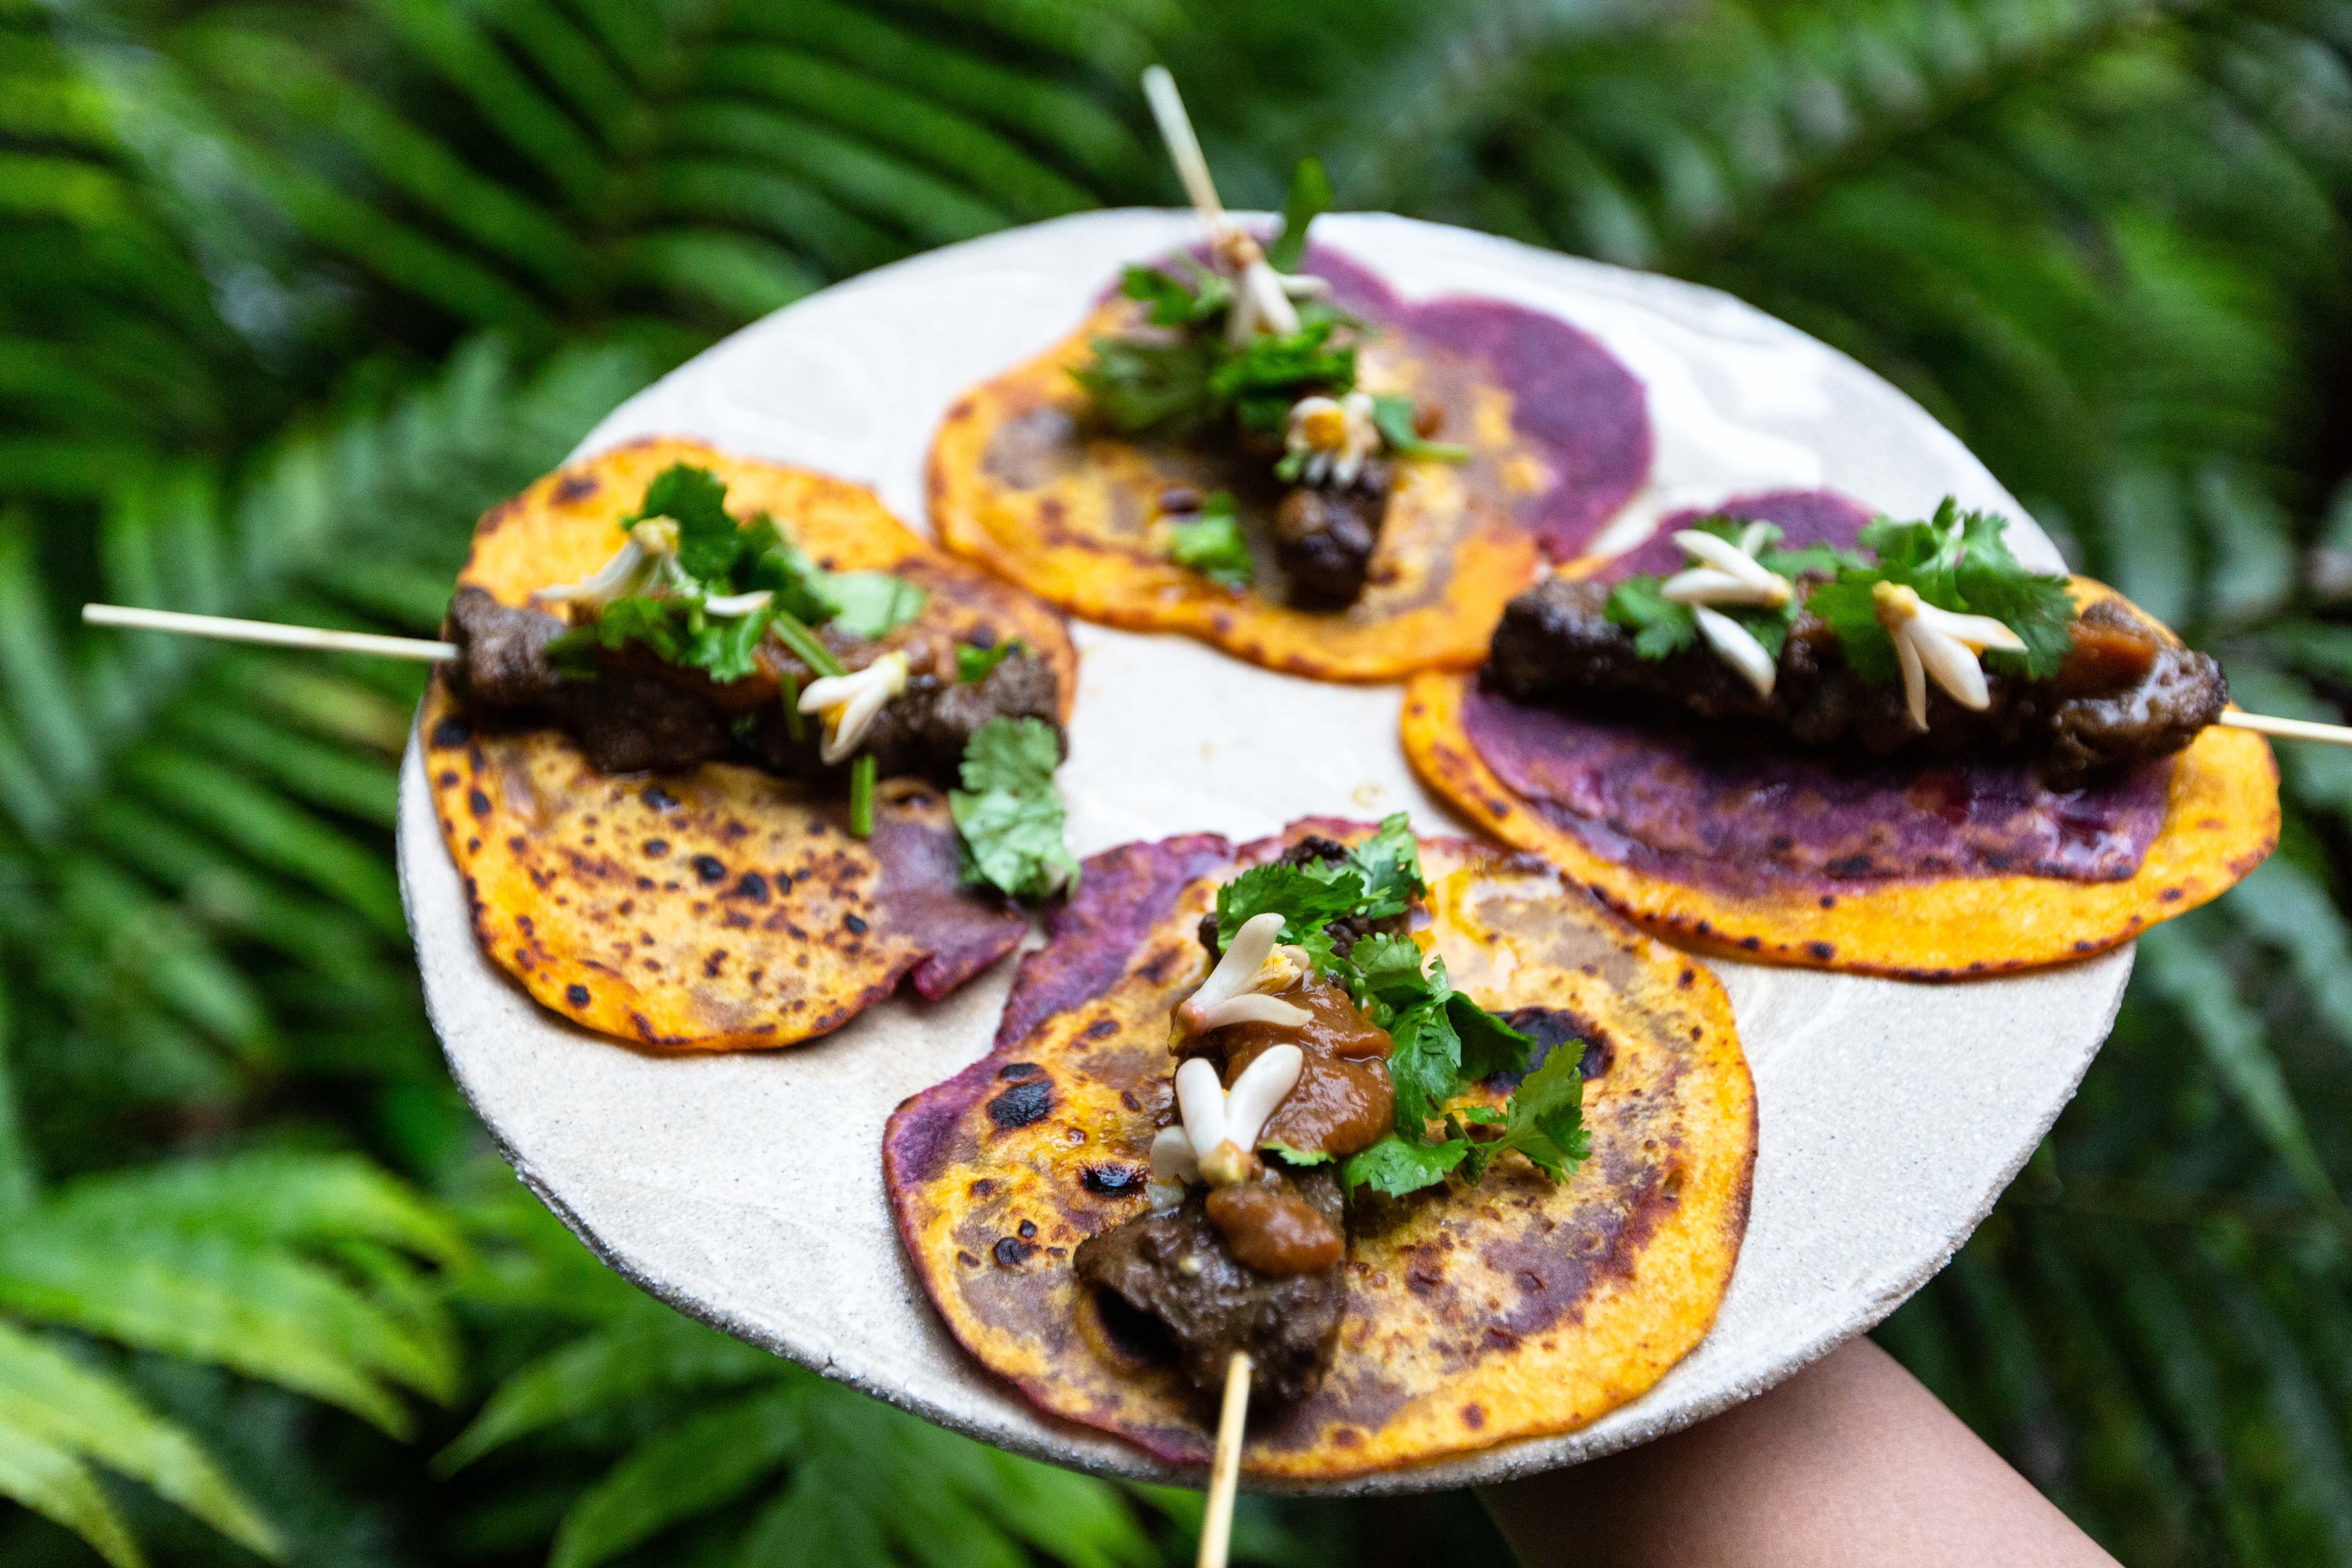
[[[828,569],[896,571],[943,635],[1021,637],[1061,677],[1061,618],[910,534],[856,484],[649,440],[562,468],[489,510],[459,574],[506,604],[593,574],[647,482],[694,463],[739,520],[769,512]],[[541,1004],[659,1051],[788,1046],[910,980],[938,997],[1011,952],[1028,919],[960,886],[946,797],[887,780],[875,832],[807,785],[731,762],[604,776],[557,729],[473,726],[435,682],[419,717],[442,837],[482,952]]]

